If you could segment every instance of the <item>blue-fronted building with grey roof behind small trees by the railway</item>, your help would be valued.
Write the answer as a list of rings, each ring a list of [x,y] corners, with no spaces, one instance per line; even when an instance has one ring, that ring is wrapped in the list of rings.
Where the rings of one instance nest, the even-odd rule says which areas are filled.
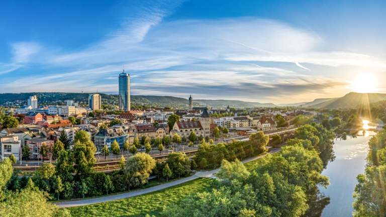
[[[109,149],[111,144],[115,141],[119,144],[121,150],[123,149],[123,144],[127,141],[127,133],[121,126],[113,126],[108,129],[100,130],[94,137],[94,144],[97,151],[101,151],[102,148],[106,145]]]

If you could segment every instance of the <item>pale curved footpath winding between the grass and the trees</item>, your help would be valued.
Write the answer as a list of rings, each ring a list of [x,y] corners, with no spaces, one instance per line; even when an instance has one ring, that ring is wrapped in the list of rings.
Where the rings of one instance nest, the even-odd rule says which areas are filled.
[[[269,151],[269,154],[273,154],[276,152],[279,152],[281,149],[280,148],[273,148],[271,151]],[[264,157],[264,155],[259,155],[257,157],[249,158],[247,160],[242,161],[243,163],[248,163],[250,161],[259,159]],[[73,206],[82,206],[82,205],[90,205],[90,204],[95,204],[95,203],[101,203],[101,202],[108,202],[108,201],[113,201],[113,200],[118,200],[118,199],[124,199],[128,197],[133,197],[133,196],[138,196],[146,193],[151,193],[153,191],[157,190],[162,190],[164,188],[172,187],[190,180],[194,180],[200,177],[211,177],[214,178],[213,174],[218,172],[219,169],[211,170],[211,171],[203,171],[203,172],[197,172],[195,175],[182,178],[176,181],[171,181],[165,184],[145,188],[145,189],[140,189],[136,191],[129,191],[127,193],[121,193],[121,194],[116,194],[116,195],[111,195],[111,196],[104,196],[104,197],[98,197],[98,198],[92,198],[92,199],[84,199],[84,200],[74,200],[74,201],[68,201],[68,202],[59,202],[59,203],[54,203],[59,206],[59,208],[66,208],[66,207],[73,207]]]

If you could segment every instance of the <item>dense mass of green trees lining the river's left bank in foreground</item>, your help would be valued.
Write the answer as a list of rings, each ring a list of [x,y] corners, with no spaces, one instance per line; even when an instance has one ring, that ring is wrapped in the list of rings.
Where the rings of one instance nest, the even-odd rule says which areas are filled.
[[[310,135],[312,136],[312,135]],[[313,135],[318,137],[318,135]],[[306,213],[326,198],[312,197],[329,179],[318,151],[308,139],[297,139],[275,155],[262,158],[252,171],[238,160],[222,160],[211,190],[192,192],[178,204],[166,206],[165,216],[317,216]],[[315,199],[317,198],[317,199]]]

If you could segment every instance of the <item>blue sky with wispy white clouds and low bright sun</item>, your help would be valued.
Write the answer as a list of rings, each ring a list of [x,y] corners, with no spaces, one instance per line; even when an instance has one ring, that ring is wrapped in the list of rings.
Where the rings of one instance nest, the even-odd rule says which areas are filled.
[[[384,1],[3,1],[0,92],[287,103],[386,92]]]

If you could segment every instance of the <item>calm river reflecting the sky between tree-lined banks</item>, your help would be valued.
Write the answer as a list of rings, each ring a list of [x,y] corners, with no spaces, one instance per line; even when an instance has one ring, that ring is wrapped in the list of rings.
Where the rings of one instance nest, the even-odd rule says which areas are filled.
[[[321,192],[330,197],[330,204],[323,209],[323,217],[352,216],[354,211],[352,193],[357,184],[356,176],[364,173],[365,158],[368,153],[367,142],[376,133],[367,130],[364,135],[363,131],[355,134],[357,135],[347,135],[347,140],[334,141],[333,149],[336,158],[329,162],[322,172],[323,175],[330,177],[331,183],[327,189],[320,188]]]

